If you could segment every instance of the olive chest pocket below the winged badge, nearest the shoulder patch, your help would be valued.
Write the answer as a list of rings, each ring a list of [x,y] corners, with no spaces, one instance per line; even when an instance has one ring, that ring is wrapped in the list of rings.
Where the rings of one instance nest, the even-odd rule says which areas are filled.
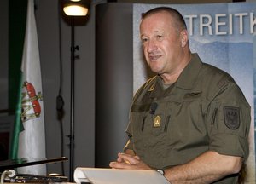
[[[201,93],[183,95],[181,101],[169,101],[166,106],[170,116],[166,129],[166,141],[178,147],[193,147],[207,136],[204,109],[206,103]]]

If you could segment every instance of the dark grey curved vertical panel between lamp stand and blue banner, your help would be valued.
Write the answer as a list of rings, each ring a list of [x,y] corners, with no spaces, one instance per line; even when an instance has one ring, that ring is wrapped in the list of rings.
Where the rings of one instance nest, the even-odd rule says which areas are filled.
[[[132,99],[132,4],[96,6],[96,167],[108,167],[127,141]]]

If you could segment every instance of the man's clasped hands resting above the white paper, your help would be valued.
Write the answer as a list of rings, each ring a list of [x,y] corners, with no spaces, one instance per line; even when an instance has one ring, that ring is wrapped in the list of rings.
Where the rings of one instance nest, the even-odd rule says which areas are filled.
[[[148,164],[143,163],[143,161],[137,155],[134,156],[125,153],[119,153],[117,161],[111,162],[109,166],[114,169],[153,170],[148,166]]]

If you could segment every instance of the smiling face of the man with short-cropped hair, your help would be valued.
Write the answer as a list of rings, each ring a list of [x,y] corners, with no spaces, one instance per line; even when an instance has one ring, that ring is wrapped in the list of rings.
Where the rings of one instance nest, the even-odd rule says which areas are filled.
[[[140,25],[143,53],[152,72],[172,74],[183,55],[180,33],[171,14],[165,11],[149,15]]]

